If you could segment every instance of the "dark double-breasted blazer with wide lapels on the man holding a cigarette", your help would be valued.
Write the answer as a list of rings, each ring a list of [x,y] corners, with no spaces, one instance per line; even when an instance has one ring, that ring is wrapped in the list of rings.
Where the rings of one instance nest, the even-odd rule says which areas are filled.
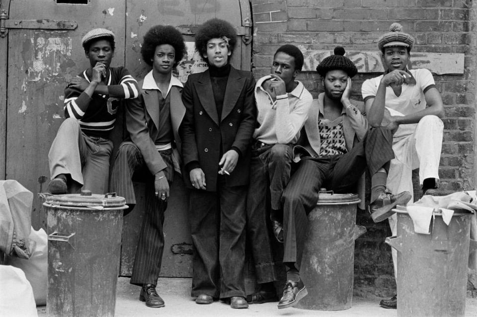
[[[226,186],[248,184],[250,141],[256,120],[255,79],[251,72],[231,67],[219,118],[209,71],[192,74],[182,90],[185,115],[179,127],[185,166],[198,162],[205,174],[206,190],[217,191],[221,156],[239,150],[237,166],[226,177]],[[184,181],[192,188],[190,177]]]

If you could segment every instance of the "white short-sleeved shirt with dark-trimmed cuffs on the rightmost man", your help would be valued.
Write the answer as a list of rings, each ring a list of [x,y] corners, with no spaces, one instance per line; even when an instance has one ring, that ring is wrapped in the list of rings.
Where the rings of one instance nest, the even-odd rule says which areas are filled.
[[[434,78],[431,72],[421,68],[409,70],[410,74],[416,79],[416,84],[402,84],[402,91],[399,97],[394,93],[393,88],[386,87],[386,107],[396,110],[403,115],[408,115],[426,108],[426,98],[424,93],[429,88],[435,87]],[[366,102],[369,98],[374,98],[378,91],[379,83],[384,75],[376,78],[367,79],[361,86],[361,94]]]

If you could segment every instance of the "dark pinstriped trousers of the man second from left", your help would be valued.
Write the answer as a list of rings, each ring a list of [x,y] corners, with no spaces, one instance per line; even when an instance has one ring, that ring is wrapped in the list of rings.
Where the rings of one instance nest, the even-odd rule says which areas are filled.
[[[160,152],[162,159],[167,164],[164,173],[169,184],[172,182],[174,175],[171,154],[172,150]],[[162,225],[167,202],[158,199],[155,195],[154,176],[147,169],[139,149],[132,142],[124,142],[119,147],[114,161],[110,190],[115,191],[118,196],[125,197],[128,204],[136,203],[133,175],[136,180],[146,182],[147,186],[145,193],[146,210],[139,234],[130,283],[156,285],[164,250]]]

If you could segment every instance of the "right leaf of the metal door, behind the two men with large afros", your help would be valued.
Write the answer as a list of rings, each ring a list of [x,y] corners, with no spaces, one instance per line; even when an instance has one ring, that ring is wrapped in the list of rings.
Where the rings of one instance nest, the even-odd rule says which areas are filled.
[[[157,24],[179,28],[188,48],[188,56],[178,69],[181,81],[187,75],[205,69],[205,64],[194,56],[194,32],[210,18],[221,18],[237,27],[238,44],[232,65],[238,69],[251,67],[251,12],[248,0],[127,0],[126,16],[126,67],[136,78],[144,77],[150,68],[141,59],[141,43],[148,29]],[[165,213],[165,246],[161,276],[192,275],[192,245],[187,219],[187,191],[180,177],[174,178],[171,198]],[[177,180],[177,181],[176,181]],[[136,184],[141,197],[142,184]],[[142,197],[143,198],[143,197]],[[144,201],[144,200],[143,200]],[[124,221],[121,253],[121,274],[130,275],[134,264],[137,239],[144,214],[143,202]]]

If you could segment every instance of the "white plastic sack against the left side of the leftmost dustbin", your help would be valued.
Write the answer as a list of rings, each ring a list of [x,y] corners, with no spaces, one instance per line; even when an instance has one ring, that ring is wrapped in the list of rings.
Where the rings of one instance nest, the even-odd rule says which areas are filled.
[[[21,269],[30,282],[36,305],[46,305],[48,283],[48,236],[43,229],[31,228],[28,237],[36,242],[36,247],[29,259],[6,256],[5,264]]]

